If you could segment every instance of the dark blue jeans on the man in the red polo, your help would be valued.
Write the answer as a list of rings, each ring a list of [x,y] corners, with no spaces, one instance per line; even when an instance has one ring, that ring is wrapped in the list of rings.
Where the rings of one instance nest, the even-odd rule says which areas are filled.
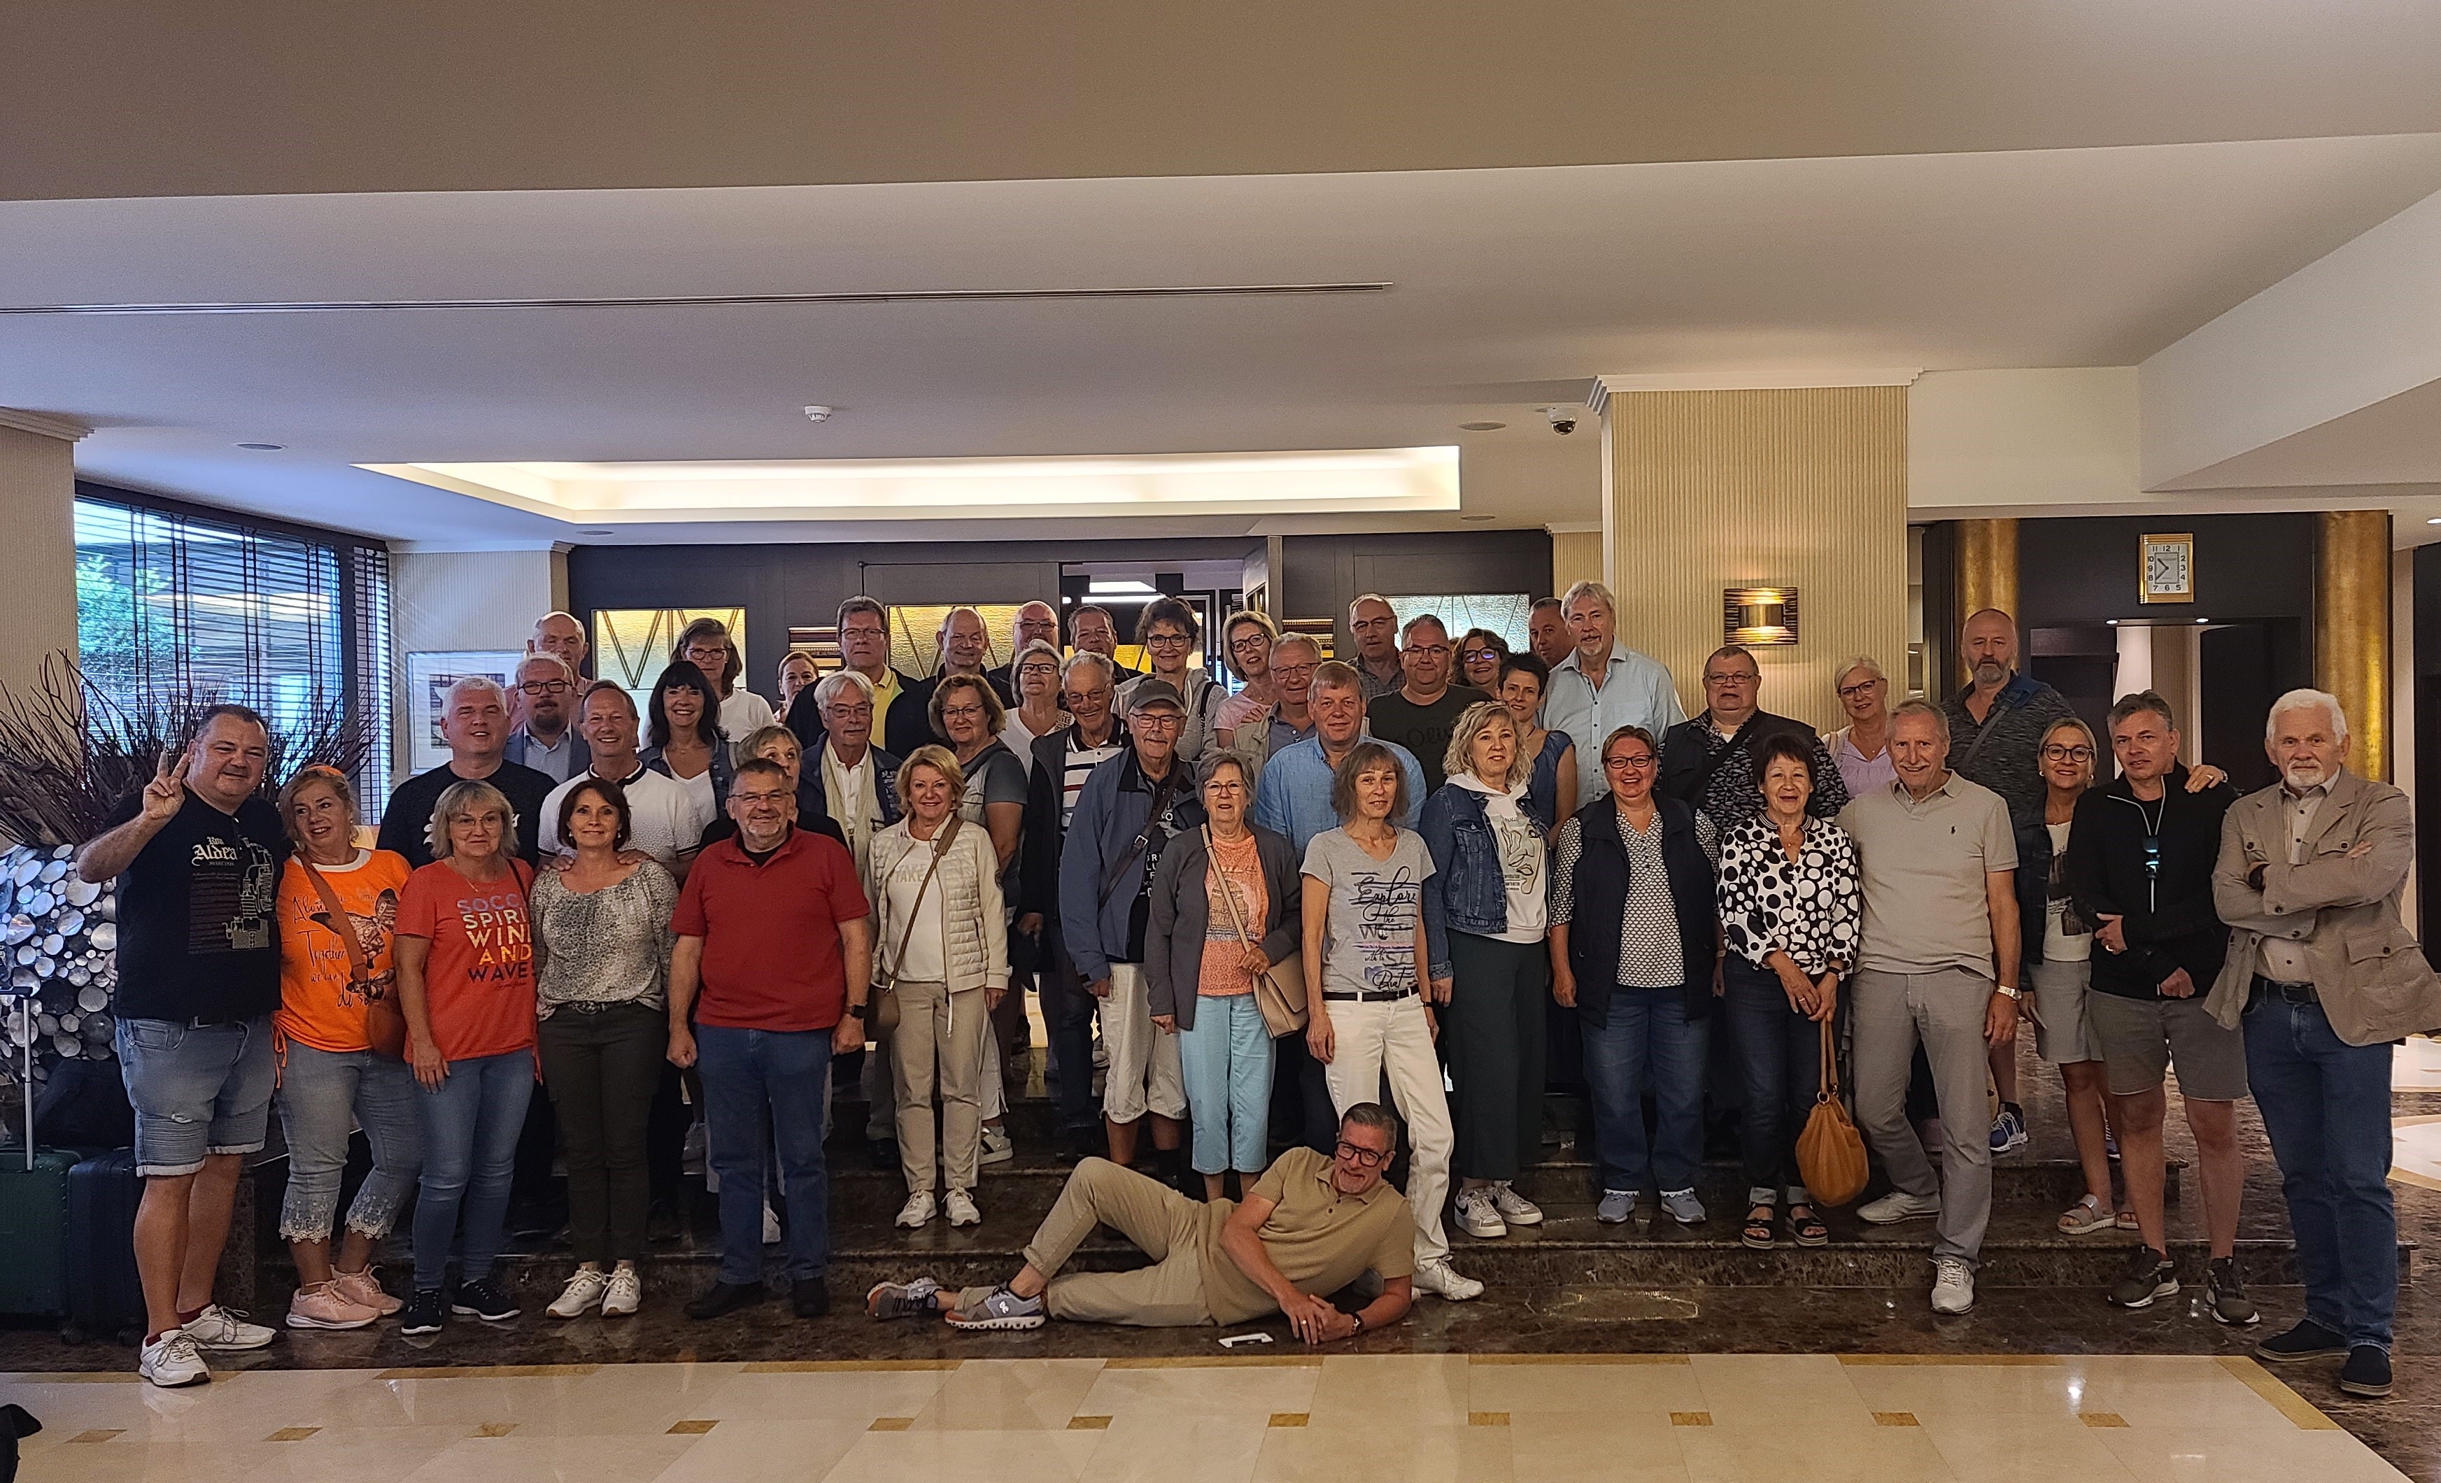
[[[703,1024],[696,1068],[703,1073],[705,1159],[720,1176],[720,1281],[762,1285],[764,1115],[788,1200],[788,1278],[820,1278],[830,1266],[830,1173],[823,1168],[830,1032]]]

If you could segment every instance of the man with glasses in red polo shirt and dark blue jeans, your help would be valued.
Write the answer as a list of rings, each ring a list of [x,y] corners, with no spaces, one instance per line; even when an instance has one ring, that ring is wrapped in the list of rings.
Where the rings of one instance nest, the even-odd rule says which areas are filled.
[[[847,849],[796,827],[796,788],[776,761],[737,763],[730,820],[737,834],[696,856],[671,917],[669,1059],[701,1068],[705,1156],[720,1176],[720,1281],[686,1315],[720,1317],[771,1295],[762,1273],[769,1115],[788,1200],[791,1300],[798,1317],[823,1317],[823,1107],[832,1051],[864,1044],[871,907]]]

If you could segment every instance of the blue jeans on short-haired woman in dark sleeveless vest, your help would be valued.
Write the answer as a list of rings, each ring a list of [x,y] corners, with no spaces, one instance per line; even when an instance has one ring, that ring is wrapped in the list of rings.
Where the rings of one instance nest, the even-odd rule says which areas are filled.
[[[1704,1056],[1711,1024],[1687,1017],[1687,990],[1614,988],[1584,1022],[1594,1090],[1594,1173],[1604,1190],[1692,1190],[1704,1166]],[[1660,1127],[1645,1146],[1645,1090]]]

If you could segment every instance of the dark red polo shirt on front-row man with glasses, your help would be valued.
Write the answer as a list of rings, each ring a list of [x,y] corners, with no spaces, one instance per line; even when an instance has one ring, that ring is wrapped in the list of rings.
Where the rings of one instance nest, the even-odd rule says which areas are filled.
[[[759,866],[735,834],[708,846],[669,920],[679,937],[703,939],[696,1024],[832,1029],[847,1012],[840,922],[869,915],[837,839],[791,829]]]

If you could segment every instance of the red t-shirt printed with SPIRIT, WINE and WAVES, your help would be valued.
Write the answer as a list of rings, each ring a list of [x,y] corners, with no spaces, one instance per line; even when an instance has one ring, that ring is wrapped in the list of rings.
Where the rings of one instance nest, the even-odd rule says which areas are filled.
[[[398,898],[398,937],[432,944],[425,1007],[444,1061],[535,1046],[532,881],[532,866],[522,861],[510,861],[505,876],[483,883],[459,876],[447,859],[408,876]]]

